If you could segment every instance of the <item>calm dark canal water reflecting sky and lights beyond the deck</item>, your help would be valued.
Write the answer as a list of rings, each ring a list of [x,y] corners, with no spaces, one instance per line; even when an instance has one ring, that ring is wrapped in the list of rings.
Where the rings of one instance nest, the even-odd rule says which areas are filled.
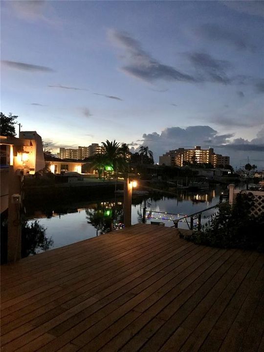
[[[173,220],[214,206],[219,203],[220,195],[226,193],[226,188],[217,186],[215,189],[196,193],[181,190],[176,196],[133,197],[132,224],[142,222],[143,208],[146,205],[146,223],[161,221],[165,226],[173,226]],[[202,222],[207,221],[216,211],[214,208],[202,213]],[[50,205],[45,206],[45,209],[41,206],[36,209],[35,205],[34,209],[27,209],[26,227],[28,233],[30,229],[32,233],[38,233],[37,240],[32,243],[31,238],[27,238],[28,243],[25,246],[28,249],[24,251],[24,256],[100,236],[109,231],[111,222],[114,230],[123,227],[122,196]],[[182,220],[178,227],[188,228],[188,225]]]

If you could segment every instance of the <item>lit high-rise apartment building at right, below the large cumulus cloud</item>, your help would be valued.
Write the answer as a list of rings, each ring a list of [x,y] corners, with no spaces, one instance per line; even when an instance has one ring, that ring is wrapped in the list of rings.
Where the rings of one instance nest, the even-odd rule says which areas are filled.
[[[184,161],[195,163],[211,163],[214,167],[217,165],[229,165],[229,156],[215,154],[213,148],[201,149],[200,146],[195,149],[179,148],[167,152],[159,157],[159,165],[183,166]]]

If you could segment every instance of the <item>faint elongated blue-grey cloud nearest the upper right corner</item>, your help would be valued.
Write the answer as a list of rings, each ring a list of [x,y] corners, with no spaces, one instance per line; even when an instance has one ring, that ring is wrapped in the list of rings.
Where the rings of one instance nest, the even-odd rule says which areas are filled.
[[[245,33],[235,33],[228,29],[221,28],[213,23],[205,23],[196,28],[196,34],[212,42],[222,42],[224,44],[233,45],[240,50],[255,50],[249,40],[246,39]]]

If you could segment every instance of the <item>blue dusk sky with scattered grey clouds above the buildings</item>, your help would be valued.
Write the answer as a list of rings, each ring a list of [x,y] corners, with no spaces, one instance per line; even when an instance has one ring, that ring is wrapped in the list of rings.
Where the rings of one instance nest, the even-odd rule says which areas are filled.
[[[1,111],[50,146],[264,169],[264,1],[1,1]]]

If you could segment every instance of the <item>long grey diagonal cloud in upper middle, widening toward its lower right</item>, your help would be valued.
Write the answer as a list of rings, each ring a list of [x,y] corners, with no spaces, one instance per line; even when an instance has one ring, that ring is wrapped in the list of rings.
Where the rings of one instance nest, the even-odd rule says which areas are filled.
[[[127,62],[121,70],[128,75],[146,82],[164,80],[170,82],[195,82],[194,77],[178,71],[173,66],[161,64],[141,48],[139,42],[124,32],[109,30],[109,37],[114,45],[121,47]]]

